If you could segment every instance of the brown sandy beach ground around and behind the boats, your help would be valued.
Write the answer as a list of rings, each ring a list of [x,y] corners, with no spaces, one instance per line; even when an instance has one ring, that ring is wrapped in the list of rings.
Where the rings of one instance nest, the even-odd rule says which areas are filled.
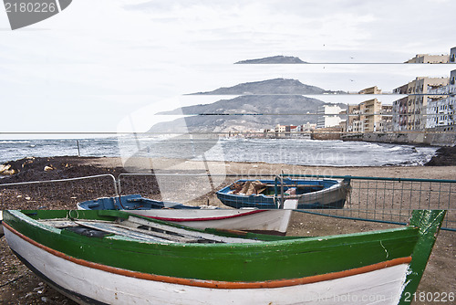
[[[36,158],[32,162],[26,160],[14,163],[16,174],[7,176],[1,180],[2,184],[19,181],[51,180],[59,178],[71,178],[93,174],[119,174],[127,173],[150,173],[150,165],[153,165],[155,173],[205,173],[208,169],[213,174],[320,174],[320,175],[352,175],[352,176],[379,176],[398,178],[430,178],[430,179],[454,179],[456,166],[410,166],[410,167],[314,167],[296,166],[286,164],[266,163],[198,163],[185,162],[183,160],[131,160],[122,163],[119,158],[78,158],[56,157]],[[52,170],[44,171],[45,166]],[[153,197],[158,195],[157,181],[150,177],[146,180],[137,180],[132,185],[139,187],[134,191],[145,193]],[[149,179],[149,180],[147,180]],[[224,177],[223,177],[224,179]],[[88,181],[88,184],[94,184]],[[84,198],[94,198],[100,190],[110,187],[109,180],[98,181],[97,187],[90,188],[82,182],[75,184],[60,184],[60,193],[52,191],[44,192],[42,188],[13,188],[0,189],[2,200],[0,209],[16,208],[74,208],[76,202]],[[63,186],[62,186],[63,185]],[[147,185],[147,186],[145,186]],[[142,188],[141,188],[142,187]],[[54,195],[49,195],[55,193]],[[28,198],[28,199],[27,199]],[[455,200],[452,198],[452,200]],[[454,204],[454,203],[453,203]],[[292,236],[324,236],[330,234],[353,233],[381,229],[395,225],[378,224],[366,221],[337,219],[327,216],[311,216],[305,213],[294,212],[292,223],[289,226],[288,235]],[[456,291],[456,251],[454,243],[456,233],[441,231],[437,243],[432,251],[430,261],[424,277],[421,280],[419,292],[444,293]],[[5,244],[5,238],[0,239],[0,259],[2,274],[0,275],[0,300],[5,304],[74,304],[71,300],[58,294],[49,288],[41,279],[37,279],[24,265],[22,265],[9,247]],[[416,304],[428,304],[430,302],[415,302]],[[450,302],[448,302],[450,303]]]

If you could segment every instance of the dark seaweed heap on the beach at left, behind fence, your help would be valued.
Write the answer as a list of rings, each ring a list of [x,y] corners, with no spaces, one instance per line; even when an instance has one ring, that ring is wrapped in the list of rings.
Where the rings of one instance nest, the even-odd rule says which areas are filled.
[[[90,158],[49,157],[25,158],[4,163],[15,174],[0,179],[0,209],[45,208],[74,209],[81,201],[116,195],[115,182],[109,177],[48,182],[100,174],[127,173],[123,167],[105,168],[87,163]],[[38,184],[20,184],[40,182]],[[6,184],[6,185],[5,185]],[[12,184],[12,185],[7,185]],[[153,176],[132,177],[122,185],[125,192],[145,196],[159,194]]]

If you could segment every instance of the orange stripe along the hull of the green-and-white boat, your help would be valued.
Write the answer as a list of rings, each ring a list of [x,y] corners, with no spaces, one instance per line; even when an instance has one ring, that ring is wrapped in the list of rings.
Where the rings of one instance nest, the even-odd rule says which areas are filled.
[[[182,278],[175,278],[169,276],[160,276],[160,275],[153,275],[149,273],[142,273],[136,271],[130,271],[121,268],[110,267],[106,265],[101,265],[98,263],[90,262],[80,258],[73,258],[68,256],[65,253],[59,252],[54,250],[50,247],[41,245],[37,243],[35,240],[26,237],[22,233],[16,231],[16,229],[8,226],[7,224],[3,224],[6,229],[11,231],[12,233],[16,234],[18,237],[23,238],[28,243],[39,247],[48,253],[58,257],[69,260],[75,264],[85,266],[88,268],[95,268],[98,270],[106,271],[109,273],[118,274],[125,277],[136,278],[136,279],[147,279],[147,280],[154,280],[154,281],[161,281],[171,284],[178,284],[178,285],[186,285],[186,286],[195,286],[195,287],[202,287],[202,288],[210,288],[210,289],[268,289],[268,288],[281,288],[287,286],[295,286],[295,285],[304,285],[310,283],[316,283],[319,281],[331,280],[331,279],[340,279],[346,278],[354,275],[358,275],[361,273],[371,272],[382,268],[389,268],[401,264],[409,264],[411,261],[411,257],[407,258],[395,258],[388,261],[380,262],[373,265],[368,265],[360,268],[352,268],[344,271],[326,273],[306,278],[299,278],[299,279],[275,279],[275,280],[265,280],[265,281],[256,281],[256,282],[230,282],[230,281],[222,281],[222,280],[209,280],[209,279],[182,279]]]

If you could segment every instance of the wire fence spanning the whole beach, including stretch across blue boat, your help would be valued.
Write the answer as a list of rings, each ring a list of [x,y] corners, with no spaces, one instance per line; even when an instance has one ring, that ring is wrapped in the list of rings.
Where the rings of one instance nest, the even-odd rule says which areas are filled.
[[[235,194],[240,182],[244,190]],[[392,224],[407,223],[413,209],[446,209],[442,228],[456,231],[456,180],[306,174],[119,174],[116,180],[101,174],[0,184],[0,209],[74,209],[83,201],[132,194],[222,208],[280,208],[296,199],[306,213]]]

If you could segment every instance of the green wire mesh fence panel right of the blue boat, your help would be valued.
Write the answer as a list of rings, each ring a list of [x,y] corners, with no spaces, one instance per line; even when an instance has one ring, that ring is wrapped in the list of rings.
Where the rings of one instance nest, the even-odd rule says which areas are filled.
[[[351,190],[343,209],[306,211],[319,215],[406,224],[414,209],[445,209],[442,228],[456,231],[456,180],[284,174],[297,179],[346,179]]]

